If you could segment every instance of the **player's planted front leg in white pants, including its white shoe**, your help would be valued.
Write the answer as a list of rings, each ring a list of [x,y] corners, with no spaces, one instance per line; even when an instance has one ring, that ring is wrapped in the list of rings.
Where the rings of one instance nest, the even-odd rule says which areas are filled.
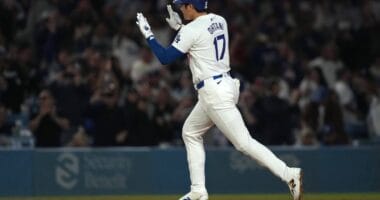
[[[186,147],[190,171],[191,192],[194,193],[195,196],[197,196],[197,193],[207,195],[205,187],[206,155],[203,144],[203,134],[213,125],[211,119],[202,109],[201,103],[198,102],[187,117],[182,129],[182,137]],[[186,199],[186,195],[183,199]],[[198,198],[192,197],[191,199]]]

